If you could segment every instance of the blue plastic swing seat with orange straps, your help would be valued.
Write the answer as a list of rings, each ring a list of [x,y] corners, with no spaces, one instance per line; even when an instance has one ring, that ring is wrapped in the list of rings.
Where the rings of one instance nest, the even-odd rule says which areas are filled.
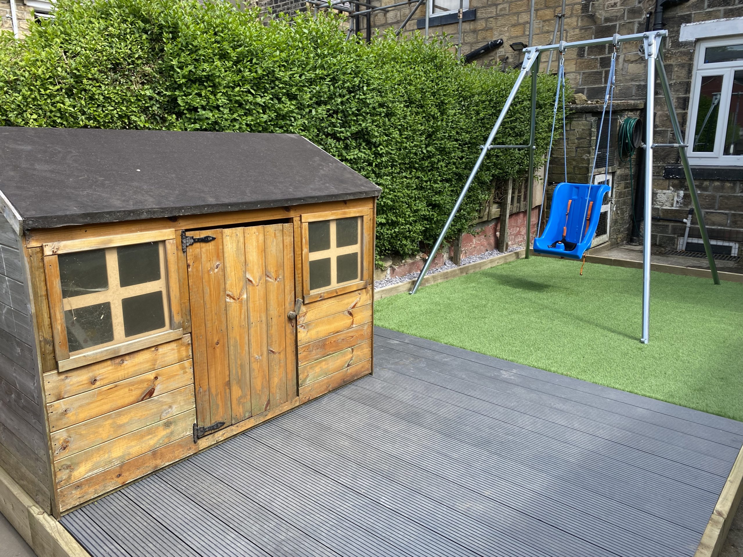
[[[589,189],[591,190],[590,193],[588,192]],[[545,255],[558,255],[570,259],[583,258],[585,250],[591,247],[591,241],[594,239],[596,227],[599,224],[601,202],[604,195],[610,190],[611,187],[605,183],[562,182],[557,184],[552,194],[550,218],[542,235],[539,238],[534,238],[533,250]],[[585,216],[587,212],[586,199],[588,199],[588,205],[591,205],[591,202],[593,203],[591,205],[591,215],[588,218]],[[569,210],[568,201],[570,202]],[[585,227],[584,219],[588,220],[588,229]],[[556,242],[563,240],[563,232],[565,241],[576,244],[574,249],[568,251],[565,244],[556,244]]]

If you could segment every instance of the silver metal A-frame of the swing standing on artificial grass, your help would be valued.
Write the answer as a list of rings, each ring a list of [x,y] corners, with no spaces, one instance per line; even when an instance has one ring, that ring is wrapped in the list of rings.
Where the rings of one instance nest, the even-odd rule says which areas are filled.
[[[526,258],[530,257],[531,251],[531,209],[533,204],[533,184],[534,184],[534,152],[536,151],[536,78],[539,74],[539,59],[542,52],[561,51],[564,52],[568,48],[583,48],[588,46],[597,45],[619,45],[623,42],[641,42],[643,45],[643,56],[645,56],[647,62],[647,95],[645,102],[645,137],[646,141],[652,142],[654,123],[655,123],[655,79],[658,77],[661,81],[661,88],[663,90],[663,97],[666,100],[666,106],[668,107],[669,117],[673,128],[673,133],[678,143],[650,143],[645,146],[645,210],[644,210],[644,227],[643,227],[643,317],[642,317],[642,336],[640,336],[640,342],[647,344],[650,339],[650,241],[651,241],[651,229],[652,229],[652,157],[653,149],[662,149],[666,147],[678,149],[678,154],[681,157],[681,164],[684,166],[684,175],[687,179],[687,186],[689,186],[689,192],[692,198],[692,204],[694,206],[694,212],[697,218],[697,224],[699,231],[701,232],[701,238],[704,242],[704,252],[707,254],[707,261],[710,263],[710,271],[712,272],[712,278],[715,284],[720,284],[720,278],[717,273],[717,267],[715,259],[713,258],[712,247],[710,245],[710,238],[707,235],[707,227],[704,225],[704,215],[701,212],[699,206],[699,198],[697,195],[696,187],[694,185],[694,178],[692,177],[691,167],[689,159],[687,157],[687,145],[683,143],[683,136],[681,134],[681,126],[678,123],[678,117],[676,117],[676,111],[673,105],[671,97],[671,89],[668,85],[668,78],[666,76],[666,69],[663,66],[663,39],[668,36],[667,30],[655,30],[648,31],[646,33],[635,33],[632,35],[614,35],[606,37],[605,39],[590,39],[586,41],[577,42],[565,42],[561,41],[555,45],[547,46],[531,46],[524,49],[524,62],[522,63],[521,71],[519,76],[516,77],[516,82],[513,84],[513,88],[508,95],[505,104],[499,114],[498,120],[496,120],[493,129],[490,131],[490,135],[487,137],[487,141],[482,146],[480,156],[475,163],[475,166],[470,172],[470,177],[467,178],[467,182],[464,183],[459,197],[454,204],[454,208],[447,218],[444,229],[441,230],[441,234],[438,235],[438,239],[431,250],[431,254],[426,259],[423,270],[418,275],[418,279],[410,291],[411,294],[415,294],[418,288],[421,286],[428,268],[433,261],[435,254],[441,247],[441,243],[444,241],[444,236],[447,234],[449,227],[457,214],[464,196],[467,195],[467,190],[477,175],[478,170],[482,164],[490,149],[529,149],[529,183],[527,188],[527,213],[526,213]],[[495,139],[503,120],[513,103],[513,99],[516,97],[516,93],[522,85],[522,82],[526,78],[527,74],[531,73],[531,127],[529,130],[529,143],[528,145],[493,145],[493,139]],[[657,74],[657,75],[656,75]],[[546,180],[546,177],[545,177]],[[593,180],[593,177],[591,177]],[[638,192],[639,194],[639,192]],[[542,200],[544,203],[544,200]]]

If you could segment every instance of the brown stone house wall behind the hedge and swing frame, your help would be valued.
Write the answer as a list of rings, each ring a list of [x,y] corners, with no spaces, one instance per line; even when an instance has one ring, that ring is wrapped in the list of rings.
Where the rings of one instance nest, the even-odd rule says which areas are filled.
[[[375,5],[392,4],[394,0],[374,0]],[[536,0],[533,43],[546,45],[552,42],[555,15],[561,10],[561,0]],[[509,45],[515,42],[528,42],[529,0],[470,0],[470,9],[476,9],[476,19],[462,24],[462,53],[467,53],[493,39],[503,39],[504,46],[482,56],[476,63],[481,65],[510,68],[520,66],[522,57]],[[646,26],[646,13],[655,9],[654,0],[597,0],[566,1],[565,40],[580,41],[614,33],[641,33]],[[374,13],[374,26],[380,29],[399,27],[409,13],[409,7],[392,8],[386,13]],[[416,28],[416,19],[424,17],[424,7],[417,10],[415,17],[406,25],[406,31]],[[691,0],[677,7],[666,9],[663,13],[664,27],[669,31],[665,45],[666,74],[669,78],[678,119],[685,131],[689,110],[689,95],[694,59],[694,44],[679,42],[679,31],[684,23],[704,22],[711,19],[743,17],[743,2],[740,0]],[[651,19],[652,27],[652,19]],[[743,22],[741,23],[743,30]],[[430,33],[450,35],[452,42],[457,40],[457,24],[430,27]],[[452,47],[453,48],[453,47]],[[546,70],[548,55],[542,59],[541,69]],[[565,70],[574,92],[585,95],[595,102],[603,100],[606,79],[611,63],[611,47],[589,47],[568,51]],[[551,65],[551,73],[557,71],[557,56]],[[661,94],[660,88],[657,88]],[[632,101],[634,110],[622,110],[620,117],[641,116],[646,94],[646,62],[637,52],[637,46],[626,44],[617,55],[617,87],[614,99]],[[589,105],[590,106],[590,105]],[[574,114],[568,123],[568,140],[571,145],[572,160],[569,162],[569,175],[585,181],[590,170],[593,145],[595,142],[595,107],[574,106]],[[587,112],[588,111],[588,112]],[[588,113],[594,113],[590,116]],[[588,125],[591,125],[588,127]],[[591,134],[588,134],[591,130]],[[684,139],[684,138],[682,138]],[[675,143],[663,97],[657,97],[655,143]],[[691,204],[685,180],[678,179],[680,159],[675,149],[658,149],[654,153],[653,166],[653,215],[662,218],[686,218]],[[569,155],[570,156],[570,155]],[[632,201],[629,198],[629,165],[618,161],[615,165],[617,191],[612,210],[611,242],[620,243],[629,237],[632,226]],[[562,180],[557,169],[562,167],[562,150],[556,149],[551,161],[551,185]],[[637,169],[637,160],[633,161]],[[704,173],[697,173],[695,183],[702,192],[700,196],[705,220],[710,236],[723,240],[743,241],[743,168],[734,169],[705,179]],[[602,171],[603,172],[603,171]],[[653,244],[658,248],[675,247],[678,235],[683,235],[683,224],[656,220],[653,222]],[[698,230],[692,229],[692,235]]]

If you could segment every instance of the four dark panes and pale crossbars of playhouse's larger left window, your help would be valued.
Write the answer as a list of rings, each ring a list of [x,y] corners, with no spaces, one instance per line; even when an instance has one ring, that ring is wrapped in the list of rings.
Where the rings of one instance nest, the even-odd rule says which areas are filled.
[[[59,255],[70,354],[169,330],[163,244]]]

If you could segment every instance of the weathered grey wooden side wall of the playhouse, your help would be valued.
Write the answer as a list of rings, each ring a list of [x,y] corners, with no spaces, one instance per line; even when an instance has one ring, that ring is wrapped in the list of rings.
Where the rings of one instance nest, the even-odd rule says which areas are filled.
[[[51,463],[20,238],[0,219],[0,466],[47,512]]]

